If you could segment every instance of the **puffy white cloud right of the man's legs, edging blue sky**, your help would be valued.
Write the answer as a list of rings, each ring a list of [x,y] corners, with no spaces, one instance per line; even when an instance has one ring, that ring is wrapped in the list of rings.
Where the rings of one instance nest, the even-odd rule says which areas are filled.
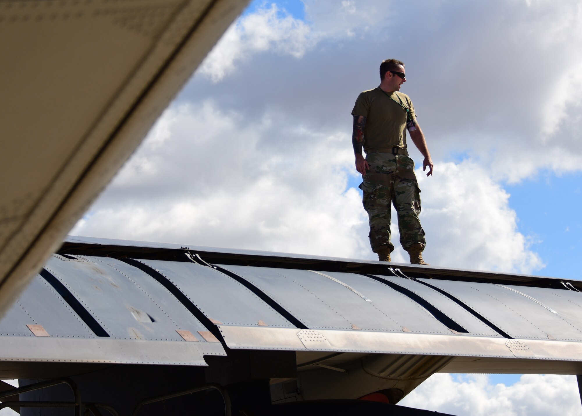
[[[441,163],[433,177],[418,170],[417,178],[429,263],[515,273],[544,266],[518,231],[509,194],[480,165]]]

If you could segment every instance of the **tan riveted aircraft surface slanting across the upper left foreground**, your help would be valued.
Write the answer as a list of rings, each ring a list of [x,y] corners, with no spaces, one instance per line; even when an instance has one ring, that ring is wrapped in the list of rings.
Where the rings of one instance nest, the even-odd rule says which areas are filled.
[[[0,2],[0,315],[247,2]]]

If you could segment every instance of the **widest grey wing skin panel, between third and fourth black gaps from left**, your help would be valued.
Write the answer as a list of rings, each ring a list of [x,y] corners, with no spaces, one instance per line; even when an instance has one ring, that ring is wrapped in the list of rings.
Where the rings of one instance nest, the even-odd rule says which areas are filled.
[[[249,280],[310,329],[452,334],[423,306],[367,276],[321,272],[342,284],[309,270],[220,267]]]

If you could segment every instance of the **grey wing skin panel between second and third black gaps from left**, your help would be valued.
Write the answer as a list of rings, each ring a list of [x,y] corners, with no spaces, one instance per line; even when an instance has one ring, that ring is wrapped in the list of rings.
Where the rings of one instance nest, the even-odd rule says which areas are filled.
[[[221,325],[294,327],[248,288],[212,267],[165,260],[137,260],[179,288],[207,318]],[[261,323],[260,323],[261,322]]]

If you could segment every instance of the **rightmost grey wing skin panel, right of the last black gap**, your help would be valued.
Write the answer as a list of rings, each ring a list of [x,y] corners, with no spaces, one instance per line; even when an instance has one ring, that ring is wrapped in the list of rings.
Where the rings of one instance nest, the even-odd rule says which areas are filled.
[[[580,320],[570,322],[538,302],[501,285],[418,280],[455,296],[513,338],[582,341]]]

